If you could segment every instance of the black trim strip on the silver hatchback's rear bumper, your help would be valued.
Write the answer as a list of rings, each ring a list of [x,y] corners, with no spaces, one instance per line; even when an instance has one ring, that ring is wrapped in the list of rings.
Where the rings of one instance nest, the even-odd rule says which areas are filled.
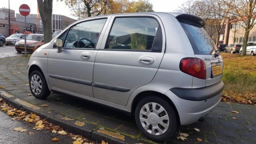
[[[201,101],[220,94],[223,89],[224,83],[221,81],[205,88],[171,88],[170,91],[184,100]]]

